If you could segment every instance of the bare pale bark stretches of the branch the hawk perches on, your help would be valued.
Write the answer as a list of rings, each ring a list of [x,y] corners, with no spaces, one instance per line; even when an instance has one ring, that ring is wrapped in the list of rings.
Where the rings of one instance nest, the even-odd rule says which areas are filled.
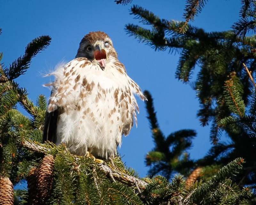
[[[46,148],[44,146],[42,146],[40,143],[38,142],[32,142],[30,140],[24,140],[21,142],[21,145],[28,148],[31,151],[37,152],[37,153],[44,153],[44,154],[48,154],[49,152],[51,152],[50,148]],[[100,166],[100,169],[107,175],[109,176],[109,173],[112,173],[112,176],[114,177],[114,179],[116,181],[119,181],[123,184],[126,184],[128,186],[134,186],[136,187],[136,183],[137,185],[140,187],[140,189],[144,189],[145,186],[147,186],[147,182],[138,179],[136,177],[130,176],[126,173],[122,173],[120,170],[117,169],[111,169],[106,163],[103,164],[98,164]]]

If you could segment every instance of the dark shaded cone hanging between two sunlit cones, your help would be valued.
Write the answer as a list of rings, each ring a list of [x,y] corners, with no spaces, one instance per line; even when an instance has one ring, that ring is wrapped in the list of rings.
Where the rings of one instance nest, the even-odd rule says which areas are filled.
[[[36,186],[37,176],[38,176],[38,169],[32,168],[27,177],[29,204],[38,204],[38,194],[37,194],[37,186]]]

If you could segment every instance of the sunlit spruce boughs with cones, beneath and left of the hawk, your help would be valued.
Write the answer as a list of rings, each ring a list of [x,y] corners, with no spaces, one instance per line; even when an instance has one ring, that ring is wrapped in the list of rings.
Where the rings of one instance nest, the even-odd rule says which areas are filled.
[[[24,180],[20,204],[246,204],[248,188],[240,189],[234,176],[243,158],[224,166],[208,181],[188,183],[181,175],[139,178],[119,156],[97,163],[92,156],[76,156],[62,145],[42,142],[46,98],[36,103],[15,79],[25,74],[32,57],[49,46],[40,36],[9,67],[0,66],[0,204],[13,204],[13,186]],[[0,55],[2,57],[2,54]],[[20,104],[30,116],[17,110]],[[185,134],[191,138],[192,134]],[[171,139],[172,137],[170,137]]]

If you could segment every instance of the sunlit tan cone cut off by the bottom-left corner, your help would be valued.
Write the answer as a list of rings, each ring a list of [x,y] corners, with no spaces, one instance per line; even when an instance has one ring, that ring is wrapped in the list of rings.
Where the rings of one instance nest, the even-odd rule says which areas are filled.
[[[0,205],[13,205],[13,185],[8,177],[0,178]]]

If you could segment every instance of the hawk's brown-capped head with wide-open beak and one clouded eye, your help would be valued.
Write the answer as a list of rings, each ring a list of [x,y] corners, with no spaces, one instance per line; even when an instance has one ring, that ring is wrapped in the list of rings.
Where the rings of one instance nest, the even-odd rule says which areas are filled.
[[[117,58],[110,37],[104,32],[91,32],[84,36],[77,50],[76,58],[86,57],[105,69],[112,58]]]

